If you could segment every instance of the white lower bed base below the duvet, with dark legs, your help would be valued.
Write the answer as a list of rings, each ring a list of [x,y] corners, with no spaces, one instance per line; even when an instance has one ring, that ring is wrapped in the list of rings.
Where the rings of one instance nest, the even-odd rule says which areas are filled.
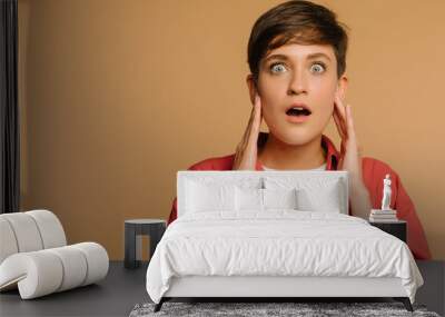
[[[393,298],[413,311],[406,290],[397,277],[285,277],[285,276],[187,276],[174,277],[155,313],[171,299],[206,298],[214,301],[318,301],[334,298]],[[359,300],[357,300],[359,301]]]

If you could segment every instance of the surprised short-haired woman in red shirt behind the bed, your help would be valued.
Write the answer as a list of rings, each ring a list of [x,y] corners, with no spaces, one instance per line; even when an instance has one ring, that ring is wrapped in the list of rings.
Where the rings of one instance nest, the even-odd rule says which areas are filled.
[[[408,246],[431,259],[424,229],[398,174],[379,159],[364,157],[354,111],[345,101],[348,27],[330,9],[310,1],[287,1],[253,26],[246,82],[250,117],[231,155],[207,158],[189,170],[346,170],[349,215],[367,219],[380,208],[383,179],[393,180],[390,208],[407,221]],[[330,119],[340,149],[324,135]],[[261,132],[265,121],[269,132]],[[168,225],[177,218],[174,199]]]

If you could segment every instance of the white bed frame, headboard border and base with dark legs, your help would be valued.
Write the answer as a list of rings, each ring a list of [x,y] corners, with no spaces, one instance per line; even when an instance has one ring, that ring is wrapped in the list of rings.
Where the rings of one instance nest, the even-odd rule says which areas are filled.
[[[347,171],[196,171],[181,170],[177,174],[178,217],[184,215],[187,179],[205,181],[237,181],[246,178],[268,177],[324,177],[339,178],[343,184],[343,210],[348,215],[348,175]],[[206,180],[207,179],[207,180]],[[402,301],[408,311],[413,307],[402,279],[396,277],[301,277],[301,276],[185,276],[174,277],[170,288],[164,294],[155,311],[159,311],[165,301],[174,298],[230,299],[245,298],[256,301],[295,301],[309,298],[393,298]]]

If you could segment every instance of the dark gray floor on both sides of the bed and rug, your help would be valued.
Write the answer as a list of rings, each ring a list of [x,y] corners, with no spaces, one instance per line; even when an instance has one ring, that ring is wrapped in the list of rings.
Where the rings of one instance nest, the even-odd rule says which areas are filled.
[[[445,265],[443,261],[417,261],[425,285],[416,303],[444,316]],[[21,300],[18,291],[0,294],[0,316],[128,316],[137,303],[150,301],[145,278],[147,264],[125,269],[123,262],[111,261],[106,279],[97,285]],[[346,301],[346,300],[345,300]]]

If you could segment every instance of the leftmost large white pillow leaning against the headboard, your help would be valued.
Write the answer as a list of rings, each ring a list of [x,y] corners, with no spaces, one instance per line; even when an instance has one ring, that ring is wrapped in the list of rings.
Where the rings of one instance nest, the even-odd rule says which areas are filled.
[[[187,212],[205,212],[235,209],[235,186],[186,182]]]

